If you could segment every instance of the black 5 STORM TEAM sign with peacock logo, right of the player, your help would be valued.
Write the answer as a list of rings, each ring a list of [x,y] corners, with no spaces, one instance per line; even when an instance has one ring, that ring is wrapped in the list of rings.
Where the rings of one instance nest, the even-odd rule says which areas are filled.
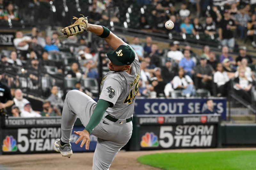
[[[216,147],[216,131],[216,125],[141,126],[140,149]]]

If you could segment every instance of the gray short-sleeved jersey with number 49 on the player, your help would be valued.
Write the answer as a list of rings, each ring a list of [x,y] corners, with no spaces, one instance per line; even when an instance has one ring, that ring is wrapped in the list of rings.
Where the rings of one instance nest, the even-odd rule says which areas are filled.
[[[134,100],[139,92],[139,75],[140,63],[137,55],[131,64],[131,74],[126,71],[109,71],[106,74],[100,84],[100,99],[114,104],[113,107],[108,107],[106,113],[117,119],[132,116]]]

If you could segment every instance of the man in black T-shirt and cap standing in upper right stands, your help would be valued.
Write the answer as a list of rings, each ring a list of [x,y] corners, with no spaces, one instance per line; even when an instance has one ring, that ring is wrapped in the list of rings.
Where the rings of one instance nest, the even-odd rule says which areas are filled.
[[[230,18],[228,10],[224,11],[224,18],[220,21],[219,38],[222,46],[228,46],[230,51],[233,51],[235,46],[235,38],[233,30],[236,29],[236,24],[233,19]]]

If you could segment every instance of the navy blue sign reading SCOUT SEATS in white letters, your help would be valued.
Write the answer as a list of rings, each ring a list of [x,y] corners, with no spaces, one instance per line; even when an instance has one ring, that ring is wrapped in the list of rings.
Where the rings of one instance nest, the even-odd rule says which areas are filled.
[[[202,114],[207,99],[136,99],[134,115]],[[212,99],[217,114],[226,120],[226,99]]]

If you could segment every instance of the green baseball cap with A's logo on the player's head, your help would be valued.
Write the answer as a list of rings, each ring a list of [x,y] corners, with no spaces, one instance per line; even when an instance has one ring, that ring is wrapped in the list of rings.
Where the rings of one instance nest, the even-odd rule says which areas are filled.
[[[130,65],[135,59],[135,52],[129,45],[120,45],[115,51],[108,52],[107,56],[115,65]]]

